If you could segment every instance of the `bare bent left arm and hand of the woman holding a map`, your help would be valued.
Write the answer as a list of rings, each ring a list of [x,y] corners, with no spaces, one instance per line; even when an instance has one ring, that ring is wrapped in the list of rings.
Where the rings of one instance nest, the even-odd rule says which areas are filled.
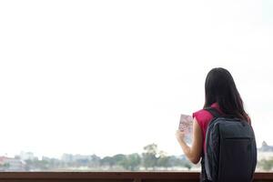
[[[184,141],[185,134],[177,130],[177,141],[182,148],[184,154],[187,156],[187,158],[194,164],[197,164],[200,160],[201,153],[202,153],[202,130],[200,126],[197,123],[196,117],[193,120],[193,141],[192,141],[192,147],[188,147],[186,142]]]

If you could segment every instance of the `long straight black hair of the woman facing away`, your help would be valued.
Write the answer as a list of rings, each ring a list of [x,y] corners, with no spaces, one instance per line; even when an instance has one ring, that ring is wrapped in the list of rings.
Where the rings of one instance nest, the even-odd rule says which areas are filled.
[[[250,123],[243,100],[227,69],[217,67],[208,72],[205,82],[205,96],[204,108],[217,103],[224,114],[237,116]]]

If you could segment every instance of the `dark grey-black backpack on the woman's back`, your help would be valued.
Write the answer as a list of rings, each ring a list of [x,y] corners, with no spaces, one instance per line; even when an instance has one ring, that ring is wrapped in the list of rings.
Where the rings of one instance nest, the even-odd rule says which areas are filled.
[[[221,116],[217,109],[207,126],[206,152],[202,154],[201,180],[250,182],[257,164],[257,147],[252,127],[233,116]]]

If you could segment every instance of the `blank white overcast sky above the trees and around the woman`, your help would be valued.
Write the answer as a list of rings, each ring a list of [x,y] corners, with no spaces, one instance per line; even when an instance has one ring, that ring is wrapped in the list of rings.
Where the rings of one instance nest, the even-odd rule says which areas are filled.
[[[226,67],[273,145],[273,2],[1,1],[0,155],[169,155]]]

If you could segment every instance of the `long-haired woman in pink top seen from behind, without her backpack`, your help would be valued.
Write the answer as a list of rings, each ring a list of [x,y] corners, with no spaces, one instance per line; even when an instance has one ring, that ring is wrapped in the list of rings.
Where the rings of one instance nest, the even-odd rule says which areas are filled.
[[[177,130],[176,136],[179,145],[186,157],[197,164],[205,150],[206,131],[213,116],[205,110],[214,107],[221,114],[236,116],[248,121],[250,118],[246,113],[243,101],[238,93],[233,77],[224,68],[214,68],[209,71],[205,83],[205,105],[204,108],[193,114],[193,140],[192,147],[188,147],[184,141],[184,133]],[[203,168],[202,168],[203,171]]]

